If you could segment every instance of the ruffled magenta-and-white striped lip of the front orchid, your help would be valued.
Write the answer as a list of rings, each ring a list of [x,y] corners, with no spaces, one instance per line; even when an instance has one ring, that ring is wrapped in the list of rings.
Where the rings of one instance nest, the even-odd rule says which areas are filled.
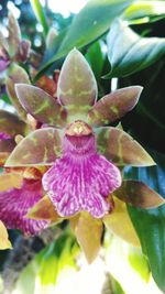
[[[103,217],[112,210],[108,195],[120,185],[118,167],[96,152],[94,134],[65,135],[64,156],[43,177],[44,189],[62,217],[80,210]]]

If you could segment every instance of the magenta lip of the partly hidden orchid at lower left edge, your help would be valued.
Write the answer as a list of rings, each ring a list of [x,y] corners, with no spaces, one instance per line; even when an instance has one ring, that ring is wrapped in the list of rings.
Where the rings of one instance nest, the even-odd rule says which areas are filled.
[[[36,235],[48,221],[26,218],[26,214],[43,196],[40,181],[24,179],[22,188],[0,193],[0,219],[9,229]]]

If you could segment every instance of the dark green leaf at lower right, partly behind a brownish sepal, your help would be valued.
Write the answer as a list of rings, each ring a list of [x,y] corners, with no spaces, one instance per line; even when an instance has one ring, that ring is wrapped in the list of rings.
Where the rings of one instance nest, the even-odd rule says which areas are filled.
[[[125,176],[148,184],[165,197],[165,156],[155,155],[157,166],[146,168],[128,168]],[[141,240],[144,254],[148,259],[153,277],[158,287],[165,292],[165,205],[153,209],[128,206],[133,226]]]

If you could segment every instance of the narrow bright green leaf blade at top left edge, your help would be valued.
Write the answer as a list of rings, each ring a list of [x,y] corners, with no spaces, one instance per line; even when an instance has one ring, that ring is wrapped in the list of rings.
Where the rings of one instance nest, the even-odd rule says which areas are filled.
[[[43,26],[44,35],[46,36],[47,32],[48,32],[48,24],[47,24],[47,20],[45,18],[44,9],[43,9],[40,0],[30,0],[30,2],[31,2],[31,6],[34,10],[36,19],[38,20],[38,22]]]

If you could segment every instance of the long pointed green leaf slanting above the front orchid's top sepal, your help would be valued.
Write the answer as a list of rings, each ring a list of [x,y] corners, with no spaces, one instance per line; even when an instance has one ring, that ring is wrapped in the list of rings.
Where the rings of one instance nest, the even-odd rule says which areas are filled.
[[[64,57],[75,46],[81,48],[106,33],[111,22],[119,17],[133,0],[90,0],[75,17],[57,53],[41,68],[40,76],[55,61]]]

